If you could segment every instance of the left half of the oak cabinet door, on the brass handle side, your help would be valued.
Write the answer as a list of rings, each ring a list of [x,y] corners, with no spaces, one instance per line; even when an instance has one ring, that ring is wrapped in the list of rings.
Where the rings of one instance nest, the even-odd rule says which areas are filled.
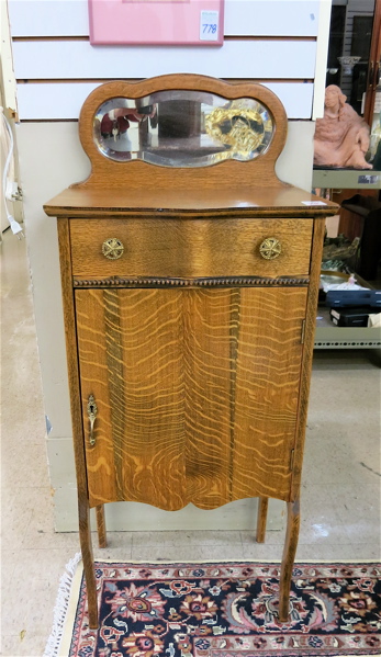
[[[184,506],[181,297],[172,290],[76,292],[90,505]]]

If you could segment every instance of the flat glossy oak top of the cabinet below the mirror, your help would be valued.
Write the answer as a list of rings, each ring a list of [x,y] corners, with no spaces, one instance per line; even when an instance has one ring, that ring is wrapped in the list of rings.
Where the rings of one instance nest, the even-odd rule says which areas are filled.
[[[328,216],[337,205],[291,185],[276,188],[224,186],[221,189],[89,189],[68,188],[44,205],[49,216],[96,217],[126,214],[235,216]]]

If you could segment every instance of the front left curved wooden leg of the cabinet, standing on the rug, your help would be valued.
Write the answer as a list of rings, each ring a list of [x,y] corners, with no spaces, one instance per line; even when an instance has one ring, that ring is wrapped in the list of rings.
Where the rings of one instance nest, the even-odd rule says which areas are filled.
[[[92,556],[92,543],[90,532],[90,510],[88,501],[80,500],[79,510],[79,541],[83,560],[86,589],[88,596],[89,625],[92,630],[98,628],[98,601],[94,562]]]

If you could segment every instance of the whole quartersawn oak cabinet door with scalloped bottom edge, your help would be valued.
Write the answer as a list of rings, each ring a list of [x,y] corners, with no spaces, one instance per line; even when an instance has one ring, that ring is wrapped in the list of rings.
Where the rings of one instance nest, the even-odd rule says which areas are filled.
[[[288,499],[305,303],[304,288],[76,291],[90,505]]]

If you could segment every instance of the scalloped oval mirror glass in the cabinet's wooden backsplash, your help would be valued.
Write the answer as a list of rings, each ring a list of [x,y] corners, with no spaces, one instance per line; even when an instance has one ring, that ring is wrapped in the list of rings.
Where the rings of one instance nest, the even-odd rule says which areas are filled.
[[[271,113],[255,99],[228,101],[188,90],[110,99],[99,107],[93,127],[105,157],[163,167],[248,161],[267,150],[274,132]]]

